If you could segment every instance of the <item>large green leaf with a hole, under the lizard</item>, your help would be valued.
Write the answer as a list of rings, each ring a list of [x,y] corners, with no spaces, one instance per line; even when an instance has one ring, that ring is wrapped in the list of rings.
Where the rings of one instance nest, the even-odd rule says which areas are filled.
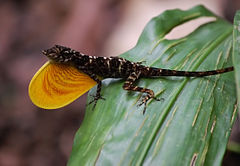
[[[174,27],[203,16],[216,21],[181,39],[164,38]],[[177,70],[229,67],[232,29],[203,6],[165,11],[147,24],[137,45],[121,57]],[[136,106],[141,94],[123,90],[123,82],[103,81],[106,100],[98,101],[94,111],[88,106],[69,166],[220,165],[236,116],[233,72],[204,78],[142,78],[137,85],[163,99],[151,101],[145,115],[143,107]]]

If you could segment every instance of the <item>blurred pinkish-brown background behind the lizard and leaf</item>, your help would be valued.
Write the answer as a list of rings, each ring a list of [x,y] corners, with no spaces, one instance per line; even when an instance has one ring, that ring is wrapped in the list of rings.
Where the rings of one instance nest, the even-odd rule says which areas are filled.
[[[238,0],[0,0],[0,166],[66,165],[83,120],[86,95],[58,111],[29,100],[28,84],[47,61],[41,50],[60,44],[117,56],[134,47],[152,17],[197,4],[230,22],[240,8]],[[239,163],[239,154],[226,153],[223,165]]]

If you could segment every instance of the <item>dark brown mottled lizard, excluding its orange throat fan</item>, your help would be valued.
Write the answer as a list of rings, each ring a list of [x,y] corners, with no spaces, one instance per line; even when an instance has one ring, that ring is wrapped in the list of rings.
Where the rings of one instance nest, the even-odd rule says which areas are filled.
[[[101,80],[98,76],[102,78],[123,78],[125,83],[123,89],[128,91],[137,91],[141,93],[146,93],[142,101],[138,106],[144,104],[143,113],[146,110],[146,104],[149,99],[159,100],[155,97],[154,92],[151,89],[142,88],[133,85],[135,81],[139,78],[149,78],[149,77],[160,77],[160,76],[183,76],[183,77],[204,77],[210,75],[221,74],[229,71],[233,71],[233,67],[228,67],[219,70],[212,71],[199,71],[199,72],[189,72],[189,71],[176,71],[168,70],[154,67],[147,67],[141,65],[141,63],[131,62],[120,57],[95,57],[88,56],[77,51],[72,50],[60,45],[55,45],[54,47],[44,50],[43,54],[46,55],[51,61],[55,63],[64,63],[73,65],[80,71],[89,75],[94,81],[97,82],[97,93],[94,99],[90,102],[94,102],[94,107],[98,99],[104,99],[101,97]]]

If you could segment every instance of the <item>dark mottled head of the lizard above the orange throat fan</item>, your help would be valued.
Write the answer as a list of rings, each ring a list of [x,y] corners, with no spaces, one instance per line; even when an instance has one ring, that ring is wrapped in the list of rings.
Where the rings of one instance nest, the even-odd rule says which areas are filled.
[[[55,63],[68,63],[72,60],[74,51],[68,47],[55,45],[50,49],[43,50],[42,53]]]

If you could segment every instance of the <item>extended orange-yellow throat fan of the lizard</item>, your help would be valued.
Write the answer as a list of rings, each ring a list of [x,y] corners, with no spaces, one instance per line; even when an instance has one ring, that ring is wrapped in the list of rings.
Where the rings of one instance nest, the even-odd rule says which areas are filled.
[[[29,96],[40,108],[57,109],[70,104],[96,84],[72,66],[47,62],[32,78]]]

